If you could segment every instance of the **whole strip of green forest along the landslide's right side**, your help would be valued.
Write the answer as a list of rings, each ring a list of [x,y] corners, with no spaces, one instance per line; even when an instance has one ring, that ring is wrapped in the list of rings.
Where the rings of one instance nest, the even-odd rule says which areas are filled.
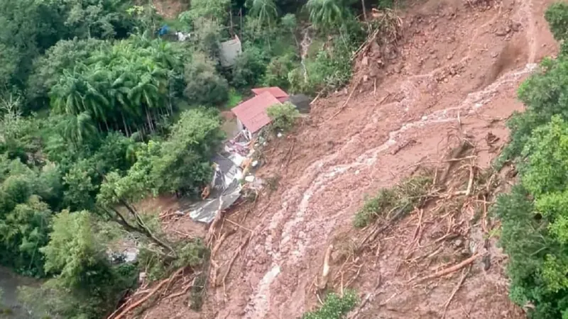
[[[562,43],[557,59],[521,84],[526,111],[510,119],[510,145],[519,182],[498,197],[501,245],[509,256],[510,298],[533,319],[568,318],[568,4],[545,13]]]

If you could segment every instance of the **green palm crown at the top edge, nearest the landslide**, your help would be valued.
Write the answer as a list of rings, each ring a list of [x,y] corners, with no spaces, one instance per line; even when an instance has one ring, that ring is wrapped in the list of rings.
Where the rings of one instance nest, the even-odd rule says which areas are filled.
[[[341,0],[308,0],[306,6],[315,28],[333,29],[345,21],[346,9]]]

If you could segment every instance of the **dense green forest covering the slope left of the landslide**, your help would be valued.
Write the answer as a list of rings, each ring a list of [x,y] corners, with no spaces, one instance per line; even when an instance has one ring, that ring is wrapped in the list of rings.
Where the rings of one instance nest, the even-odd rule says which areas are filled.
[[[141,1],[0,0],[0,265],[45,279],[21,291],[36,315],[103,318],[141,269],[202,263],[200,240],[168,240],[136,203],[198,194],[225,138],[219,110],[253,86],[336,89],[367,30],[358,1],[185,2],[166,20]],[[317,39],[302,48],[306,26]],[[233,35],[243,52],[224,68]],[[135,263],[109,257],[121,239]]]

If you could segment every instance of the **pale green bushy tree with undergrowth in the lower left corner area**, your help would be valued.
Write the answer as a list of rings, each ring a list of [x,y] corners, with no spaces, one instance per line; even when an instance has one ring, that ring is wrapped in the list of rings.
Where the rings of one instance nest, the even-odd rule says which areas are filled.
[[[136,279],[134,267],[112,265],[105,240],[87,211],[62,211],[54,218],[45,254],[45,271],[57,274],[29,298],[40,298],[50,315],[61,318],[101,318]],[[35,301],[34,304],[37,304]]]

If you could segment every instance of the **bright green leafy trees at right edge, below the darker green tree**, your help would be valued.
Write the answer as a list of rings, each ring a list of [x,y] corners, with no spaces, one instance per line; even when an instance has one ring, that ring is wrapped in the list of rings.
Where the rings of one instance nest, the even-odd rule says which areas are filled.
[[[568,309],[568,184],[562,180],[567,140],[568,125],[558,116],[537,128],[523,150],[526,160],[519,162],[522,186],[501,196],[495,208],[510,257],[510,295],[521,305],[535,305],[531,318],[559,318]]]

